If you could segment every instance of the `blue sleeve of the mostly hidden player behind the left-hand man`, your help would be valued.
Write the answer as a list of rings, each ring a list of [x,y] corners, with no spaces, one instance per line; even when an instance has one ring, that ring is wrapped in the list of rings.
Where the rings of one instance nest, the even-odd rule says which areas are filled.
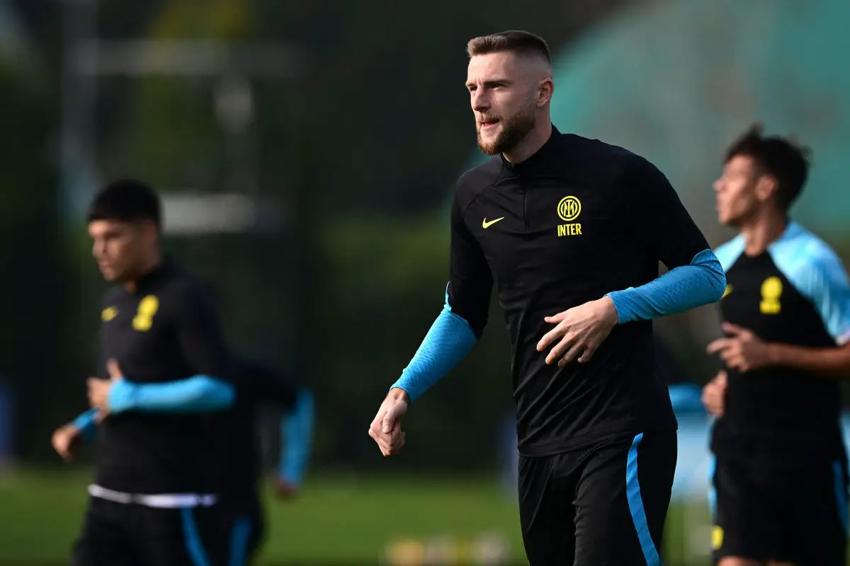
[[[314,403],[307,389],[298,392],[292,411],[280,421],[280,479],[301,485],[313,444]]]

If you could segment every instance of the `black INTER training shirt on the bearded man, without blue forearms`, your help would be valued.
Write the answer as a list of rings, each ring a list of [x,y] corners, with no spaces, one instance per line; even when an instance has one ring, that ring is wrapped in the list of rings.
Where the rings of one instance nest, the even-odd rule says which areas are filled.
[[[458,181],[448,301],[480,335],[496,283],[513,350],[519,451],[545,456],[673,429],[655,376],[651,322],[614,329],[591,361],[546,365],[549,315],[686,266],[708,249],[666,177],[598,140],[552,137],[530,159],[496,156]]]

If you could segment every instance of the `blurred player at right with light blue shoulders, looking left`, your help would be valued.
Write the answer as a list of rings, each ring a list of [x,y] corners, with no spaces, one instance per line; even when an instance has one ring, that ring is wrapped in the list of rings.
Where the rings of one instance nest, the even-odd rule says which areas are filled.
[[[850,285],[822,240],[791,221],[808,150],[745,132],[715,182],[727,273],[723,371],[706,385],[721,566],[844,566],[847,455],[839,380],[850,378]]]

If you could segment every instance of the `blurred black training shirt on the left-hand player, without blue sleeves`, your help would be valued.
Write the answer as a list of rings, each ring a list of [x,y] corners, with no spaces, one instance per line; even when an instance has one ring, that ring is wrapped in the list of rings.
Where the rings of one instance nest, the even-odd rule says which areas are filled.
[[[104,297],[100,375],[116,359],[133,383],[154,384],[205,374],[228,378],[218,313],[205,287],[163,264]],[[108,416],[99,427],[96,483],[142,494],[215,493],[212,414],[135,412]]]

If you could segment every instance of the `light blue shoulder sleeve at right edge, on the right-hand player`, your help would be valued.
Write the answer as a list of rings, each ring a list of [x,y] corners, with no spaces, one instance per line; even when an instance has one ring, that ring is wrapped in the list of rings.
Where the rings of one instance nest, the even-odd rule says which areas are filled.
[[[836,252],[799,225],[769,250],[779,271],[812,301],[836,344],[850,342],[850,283]]]

